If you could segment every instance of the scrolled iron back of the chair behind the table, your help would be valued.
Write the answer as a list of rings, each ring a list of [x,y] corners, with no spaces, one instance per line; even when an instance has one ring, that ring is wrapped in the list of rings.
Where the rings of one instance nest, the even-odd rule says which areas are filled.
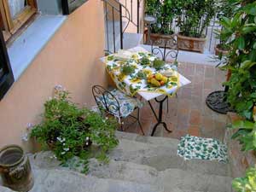
[[[161,57],[163,61],[166,61],[167,57],[171,57],[174,61],[177,61],[178,46],[177,38],[175,35],[168,36],[166,38],[151,39],[151,53]]]

